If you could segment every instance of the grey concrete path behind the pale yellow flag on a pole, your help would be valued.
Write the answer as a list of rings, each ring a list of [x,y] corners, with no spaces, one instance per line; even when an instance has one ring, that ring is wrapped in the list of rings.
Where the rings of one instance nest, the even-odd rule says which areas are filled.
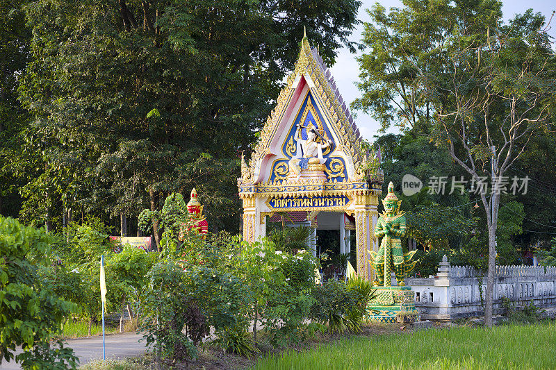
[[[146,351],[145,341],[138,342],[142,336],[135,333],[106,335],[106,358],[126,358],[138,357]],[[102,358],[102,337],[86,337],[79,339],[69,339],[66,341],[67,346],[73,348],[80,364],[86,364],[92,360]],[[21,353],[19,350],[16,353]],[[21,369],[15,363],[15,360],[6,363],[3,360],[0,364],[1,370],[17,370]]]

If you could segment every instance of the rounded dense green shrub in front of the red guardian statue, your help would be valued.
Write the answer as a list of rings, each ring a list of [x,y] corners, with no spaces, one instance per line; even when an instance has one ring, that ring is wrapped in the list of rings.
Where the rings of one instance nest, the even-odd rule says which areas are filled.
[[[195,358],[195,343],[208,328],[213,326],[218,333],[235,326],[247,305],[240,280],[217,269],[162,260],[148,278],[142,329],[147,344],[156,342],[166,358]],[[188,335],[183,333],[186,326]]]

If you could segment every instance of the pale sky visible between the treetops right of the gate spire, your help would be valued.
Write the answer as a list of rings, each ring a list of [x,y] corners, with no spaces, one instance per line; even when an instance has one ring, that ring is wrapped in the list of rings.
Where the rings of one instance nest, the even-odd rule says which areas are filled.
[[[366,9],[371,8],[376,2],[381,3],[386,10],[393,6],[402,6],[402,2],[398,0],[363,0],[363,5],[359,8],[358,18],[363,22],[369,22],[370,18],[368,17]],[[502,14],[507,20],[511,19],[514,14],[521,14],[529,8],[532,8],[534,12],[541,12],[548,20],[553,10],[556,10],[556,3],[550,0],[503,1]],[[552,25],[548,33],[556,38],[556,16],[555,19],[553,19]],[[363,28],[363,24],[359,24],[350,39],[353,41],[361,41]],[[344,101],[347,103],[351,103],[354,99],[361,96],[359,90],[357,90],[357,87],[354,85],[356,81],[359,81],[359,64],[355,58],[365,52],[366,51],[360,51],[356,54],[352,54],[347,51],[347,49],[341,49],[341,51],[338,52],[336,64],[331,68],[332,76],[334,76],[338,90],[340,90]],[[363,112],[352,111],[352,113],[357,115],[355,122],[363,138],[373,142],[373,136],[378,134],[378,129],[380,127],[379,123],[373,119],[373,117]],[[398,133],[399,131],[391,129],[389,132]]]

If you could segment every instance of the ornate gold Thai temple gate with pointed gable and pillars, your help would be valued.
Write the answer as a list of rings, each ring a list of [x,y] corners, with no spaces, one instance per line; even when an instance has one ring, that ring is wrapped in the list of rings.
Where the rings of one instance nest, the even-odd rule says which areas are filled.
[[[243,239],[266,233],[275,212],[343,212],[355,219],[357,273],[372,280],[368,251],[384,175],[379,155],[361,147],[359,130],[334,78],[304,36],[300,56],[268,117],[249,164],[242,156]]]

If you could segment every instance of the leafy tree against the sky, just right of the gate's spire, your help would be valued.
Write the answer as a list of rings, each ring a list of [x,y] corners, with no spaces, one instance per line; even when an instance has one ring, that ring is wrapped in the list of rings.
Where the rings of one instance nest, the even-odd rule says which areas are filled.
[[[385,131],[427,131],[434,106],[423,92],[421,74],[445,76],[445,44],[461,33],[484,40],[487,26],[496,26],[502,3],[496,0],[404,0],[401,8],[375,3],[367,10],[363,44],[368,53],[359,58],[362,96],[352,106],[373,115]]]

